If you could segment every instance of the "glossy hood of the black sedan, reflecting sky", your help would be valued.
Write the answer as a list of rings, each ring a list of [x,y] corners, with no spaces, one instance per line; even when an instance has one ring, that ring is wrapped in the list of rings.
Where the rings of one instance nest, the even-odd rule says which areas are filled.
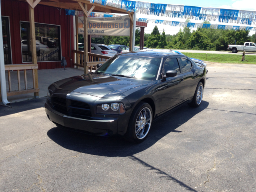
[[[116,97],[148,82],[151,82],[151,80],[122,78],[102,74],[86,74],[66,78],[53,83],[53,85],[57,89],[96,97]]]

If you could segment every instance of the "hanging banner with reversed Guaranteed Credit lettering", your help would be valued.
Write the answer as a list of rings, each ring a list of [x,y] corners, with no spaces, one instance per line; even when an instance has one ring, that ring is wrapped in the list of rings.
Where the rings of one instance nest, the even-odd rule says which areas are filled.
[[[78,34],[84,34],[83,17],[78,17]],[[130,17],[88,17],[88,35],[130,36]]]

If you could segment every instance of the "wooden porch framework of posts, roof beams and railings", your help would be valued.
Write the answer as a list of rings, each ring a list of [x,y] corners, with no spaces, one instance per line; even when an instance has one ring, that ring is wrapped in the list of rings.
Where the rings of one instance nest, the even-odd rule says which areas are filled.
[[[18,95],[18,94],[26,94],[26,93],[34,93],[34,97],[39,97],[39,88],[38,88],[38,64],[37,64],[37,56],[36,56],[36,34],[35,34],[35,19],[34,19],[34,8],[38,5],[46,5],[52,6],[56,8],[63,8],[69,10],[78,10],[84,13],[84,23],[88,22],[88,15],[92,12],[108,12],[108,13],[116,13],[116,14],[128,14],[130,17],[130,50],[132,50],[132,33],[133,33],[133,12],[127,12],[126,9],[116,8],[112,6],[103,6],[98,3],[90,3],[88,0],[17,0],[28,3],[28,11],[29,11],[29,22],[30,22],[30,50],[32,57],[32,64],[14,64],[7,66],[1,63],[1,68],[4,68],[5,71],[8,71],[8,85],[9,91],[6,90],[6,82],[5,78],[1,77],[1,84],[4,84],[4,89],[2,88],[2,94],[0,91],[0,101],[1,97],[6,98],[6,96]],[[76,16],[76,21],[78,20],[78,16]],[[77,27],[77,26],[76,26]],[[96,65],[99,63],[105,62],[104,60],[109,59],[108,56],[97,55],[93,53],[88,53],[88,25],[84,25],[84,52],[78,51],[78,30],[76,30],[76,50],[73,51],[76,55],[77,62],[74,64],[75,66],[84,67],[84,74],[89,73],[93,69],[96,69]],[[96,59],[97,58],[97,59]],[[26,70],[31,69],[33,71],[33,89],[28,89],[26,86],[26,78],[24,79],[25,89],[22,90],[20,88],[20,71],[24,70],[24,76],[26,76]],[[10,70],[17,70],[17,78],[18,78],[18,90],[12,91],[11,86],[11,78],[10,78]]]

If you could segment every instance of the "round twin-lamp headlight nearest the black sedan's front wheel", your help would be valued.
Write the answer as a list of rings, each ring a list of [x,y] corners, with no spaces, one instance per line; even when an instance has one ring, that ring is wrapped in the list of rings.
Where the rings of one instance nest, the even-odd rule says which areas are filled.
[[[97,106],[98,114],[124,114],[125,108],[123,103],[105,103]]]

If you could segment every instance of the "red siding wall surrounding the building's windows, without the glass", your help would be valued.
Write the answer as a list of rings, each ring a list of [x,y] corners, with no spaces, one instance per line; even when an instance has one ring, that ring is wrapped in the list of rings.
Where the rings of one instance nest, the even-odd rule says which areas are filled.
[[[20,44],[20,21],[29,21],[28,3],[16,0],[1,0],[2,16],[10,17],[10,34],[12,42],[12,63],[22,64],[22,52]],[[74,49],[74,25],[73,16],[66,15],[64,9],[38,4],[34,8],[35,22],[60,25],[61,52],[67,60],[67,67],[73,66],[70,62],[70,38],[71,50]],[[71,21],[71,22],[70,22]],[[71,27],[71,34],[70,34]],[[74,54],[71,53],[72,61]],[[61,68],[60,62],[38,62],[39,69]]]

